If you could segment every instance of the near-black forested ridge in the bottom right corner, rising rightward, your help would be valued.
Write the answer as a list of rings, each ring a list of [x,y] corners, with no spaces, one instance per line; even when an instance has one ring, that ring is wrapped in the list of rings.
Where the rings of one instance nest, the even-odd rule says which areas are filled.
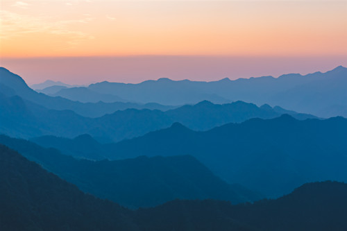
[[[174,200],[138,210],[144,230],[343,231],[347,228],[347,185],[305,184],[277,200],[246,205],[214,200]],[[155,217],[155,221],[151,220]]]

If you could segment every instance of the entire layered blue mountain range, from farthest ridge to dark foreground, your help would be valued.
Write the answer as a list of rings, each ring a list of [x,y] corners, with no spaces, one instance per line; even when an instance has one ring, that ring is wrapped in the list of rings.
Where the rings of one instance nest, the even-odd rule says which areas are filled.
[[[346,77],[34,90],[0,67],[0,230],[347,230]]]

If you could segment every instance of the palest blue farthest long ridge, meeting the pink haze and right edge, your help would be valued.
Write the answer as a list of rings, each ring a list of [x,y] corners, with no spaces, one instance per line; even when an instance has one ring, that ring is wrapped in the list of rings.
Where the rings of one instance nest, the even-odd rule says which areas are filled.
[[[341,66],[325,73],[316,72],[305,76],[285,74],[279,78],[224,78],[213,82],[161,78],[139,84],[102,82],[88,88],[94,92],[117,94],[121,98],[142,103],[183,105],[209,100],[209,96],[218,96],[225,101],[280,105],[319,117],[347,117],[347,68]]]

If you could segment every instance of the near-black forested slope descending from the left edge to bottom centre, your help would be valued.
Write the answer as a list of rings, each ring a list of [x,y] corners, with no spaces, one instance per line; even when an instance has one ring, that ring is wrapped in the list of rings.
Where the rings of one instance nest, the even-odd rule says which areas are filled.
[[[130,215],[0,145],[1,230],[139,230]]]

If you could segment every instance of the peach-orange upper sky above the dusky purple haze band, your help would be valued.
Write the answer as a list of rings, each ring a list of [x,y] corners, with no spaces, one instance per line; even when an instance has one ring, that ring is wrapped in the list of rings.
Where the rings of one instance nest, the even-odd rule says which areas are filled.
[[[1,58],[347,54],[347,1],[1,0]]]

